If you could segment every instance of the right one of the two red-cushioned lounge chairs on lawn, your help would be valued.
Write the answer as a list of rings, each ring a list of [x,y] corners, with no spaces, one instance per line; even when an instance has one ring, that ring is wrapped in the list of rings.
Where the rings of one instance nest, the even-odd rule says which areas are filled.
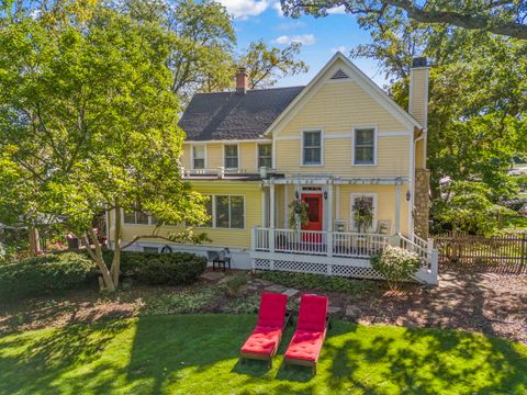
[[[302,295],[296,330],[285,350],[285,365],[311,366],[313,374],[316,374],[316,362],[328,326],[328,303],[325,296]]]

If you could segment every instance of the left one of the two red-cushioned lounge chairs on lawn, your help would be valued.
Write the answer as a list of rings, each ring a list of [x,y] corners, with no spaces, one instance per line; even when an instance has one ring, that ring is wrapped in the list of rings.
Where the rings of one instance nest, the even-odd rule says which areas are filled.
[[[272,366],[272,357],[277,353],[282,331],[289,320],[285,314],[288,296],[283,294],[264,293],[255,330],[242,346],[240,362],[245,359],[268,361]]]

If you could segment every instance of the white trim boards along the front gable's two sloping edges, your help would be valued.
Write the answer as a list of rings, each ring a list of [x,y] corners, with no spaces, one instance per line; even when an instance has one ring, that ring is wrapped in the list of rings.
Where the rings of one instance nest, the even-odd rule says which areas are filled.
[[[284,111],[272,122],[271,125],[267,128],[264,135],[269,135],[271,132],[276,131],[276,134],[280,134],[279,125],[287,121],[288,117],[294,116],[299,111],[296,109],[298,104],[304,99],[311,97],[316,92],[314,89],[315,84],[323,79],[323,76],[336,64],[337,60],[341,60],[349,68],[348,71],[343,69],[360,88],[368,92],[372,99],[379,102],[389,113],[391,113],[399,122],[403,125],[406,125],[408,128],[418,127],[423,128],[424,126],[410,115],[405,110],[403,110],[393,99],[391,99],[386,92],[377,86],[368,76],[366,76],[357,66],[355,66],[346,56],[337,52],[329,61],[318,71],[318,74],[310,81],[310,83],[300,92],[300,94],[294,98],[294,100],[285,108]],[[341,67],[339,67],[341,68]],[[333,75],[332,75],[333,76]],[[348,80],[346,80],[348,81]],[[323,81],[327,82],[326,80]],[[319,89],[319,87],[318,87]],[[274,134],[274,133],[272,133]]]

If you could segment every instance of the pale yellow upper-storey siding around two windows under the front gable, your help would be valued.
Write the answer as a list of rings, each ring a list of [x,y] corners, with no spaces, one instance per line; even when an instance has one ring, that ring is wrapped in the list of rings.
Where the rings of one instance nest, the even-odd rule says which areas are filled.
[[[351,165],[354,127],[377,126],[377,166]],[[324,163],[301,166],[303,129],[324,129]],[[397,132],[395,136],[383,133]],[[393,115],[355,82],[326,83],[281,128],[276,140],[277,169],[288,173],[330,173],[348,177],[394,177],[410,172],[408,135]],[[340,135],[341,137],[332,137]]]

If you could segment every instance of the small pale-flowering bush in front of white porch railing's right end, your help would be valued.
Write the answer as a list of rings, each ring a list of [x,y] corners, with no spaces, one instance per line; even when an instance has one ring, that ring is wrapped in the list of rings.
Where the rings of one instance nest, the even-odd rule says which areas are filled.
[[[399,290],[421,268],[421,258],[413,251],[386,246],[382,252],[370,258],[371,266],[388,281],[390,289]]]

